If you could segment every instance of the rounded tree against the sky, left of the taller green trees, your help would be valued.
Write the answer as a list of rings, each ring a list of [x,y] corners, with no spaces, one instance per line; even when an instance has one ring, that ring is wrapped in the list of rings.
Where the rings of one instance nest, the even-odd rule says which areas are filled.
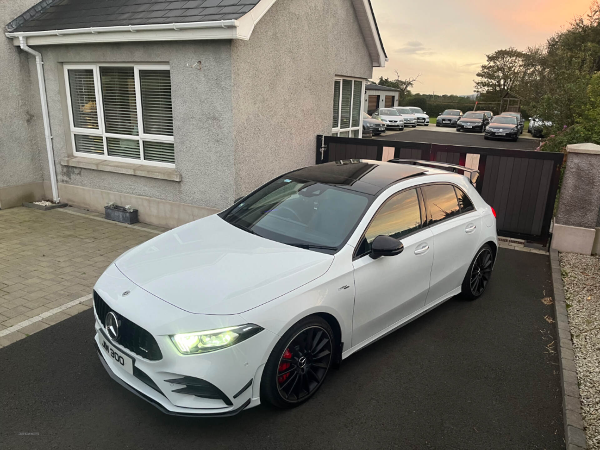
[[[500,100],[506,91],[518,91],[523,78],[524,53],[511,47],[486,55],[487,63],[477,73],[475,92],[485,100]]]

